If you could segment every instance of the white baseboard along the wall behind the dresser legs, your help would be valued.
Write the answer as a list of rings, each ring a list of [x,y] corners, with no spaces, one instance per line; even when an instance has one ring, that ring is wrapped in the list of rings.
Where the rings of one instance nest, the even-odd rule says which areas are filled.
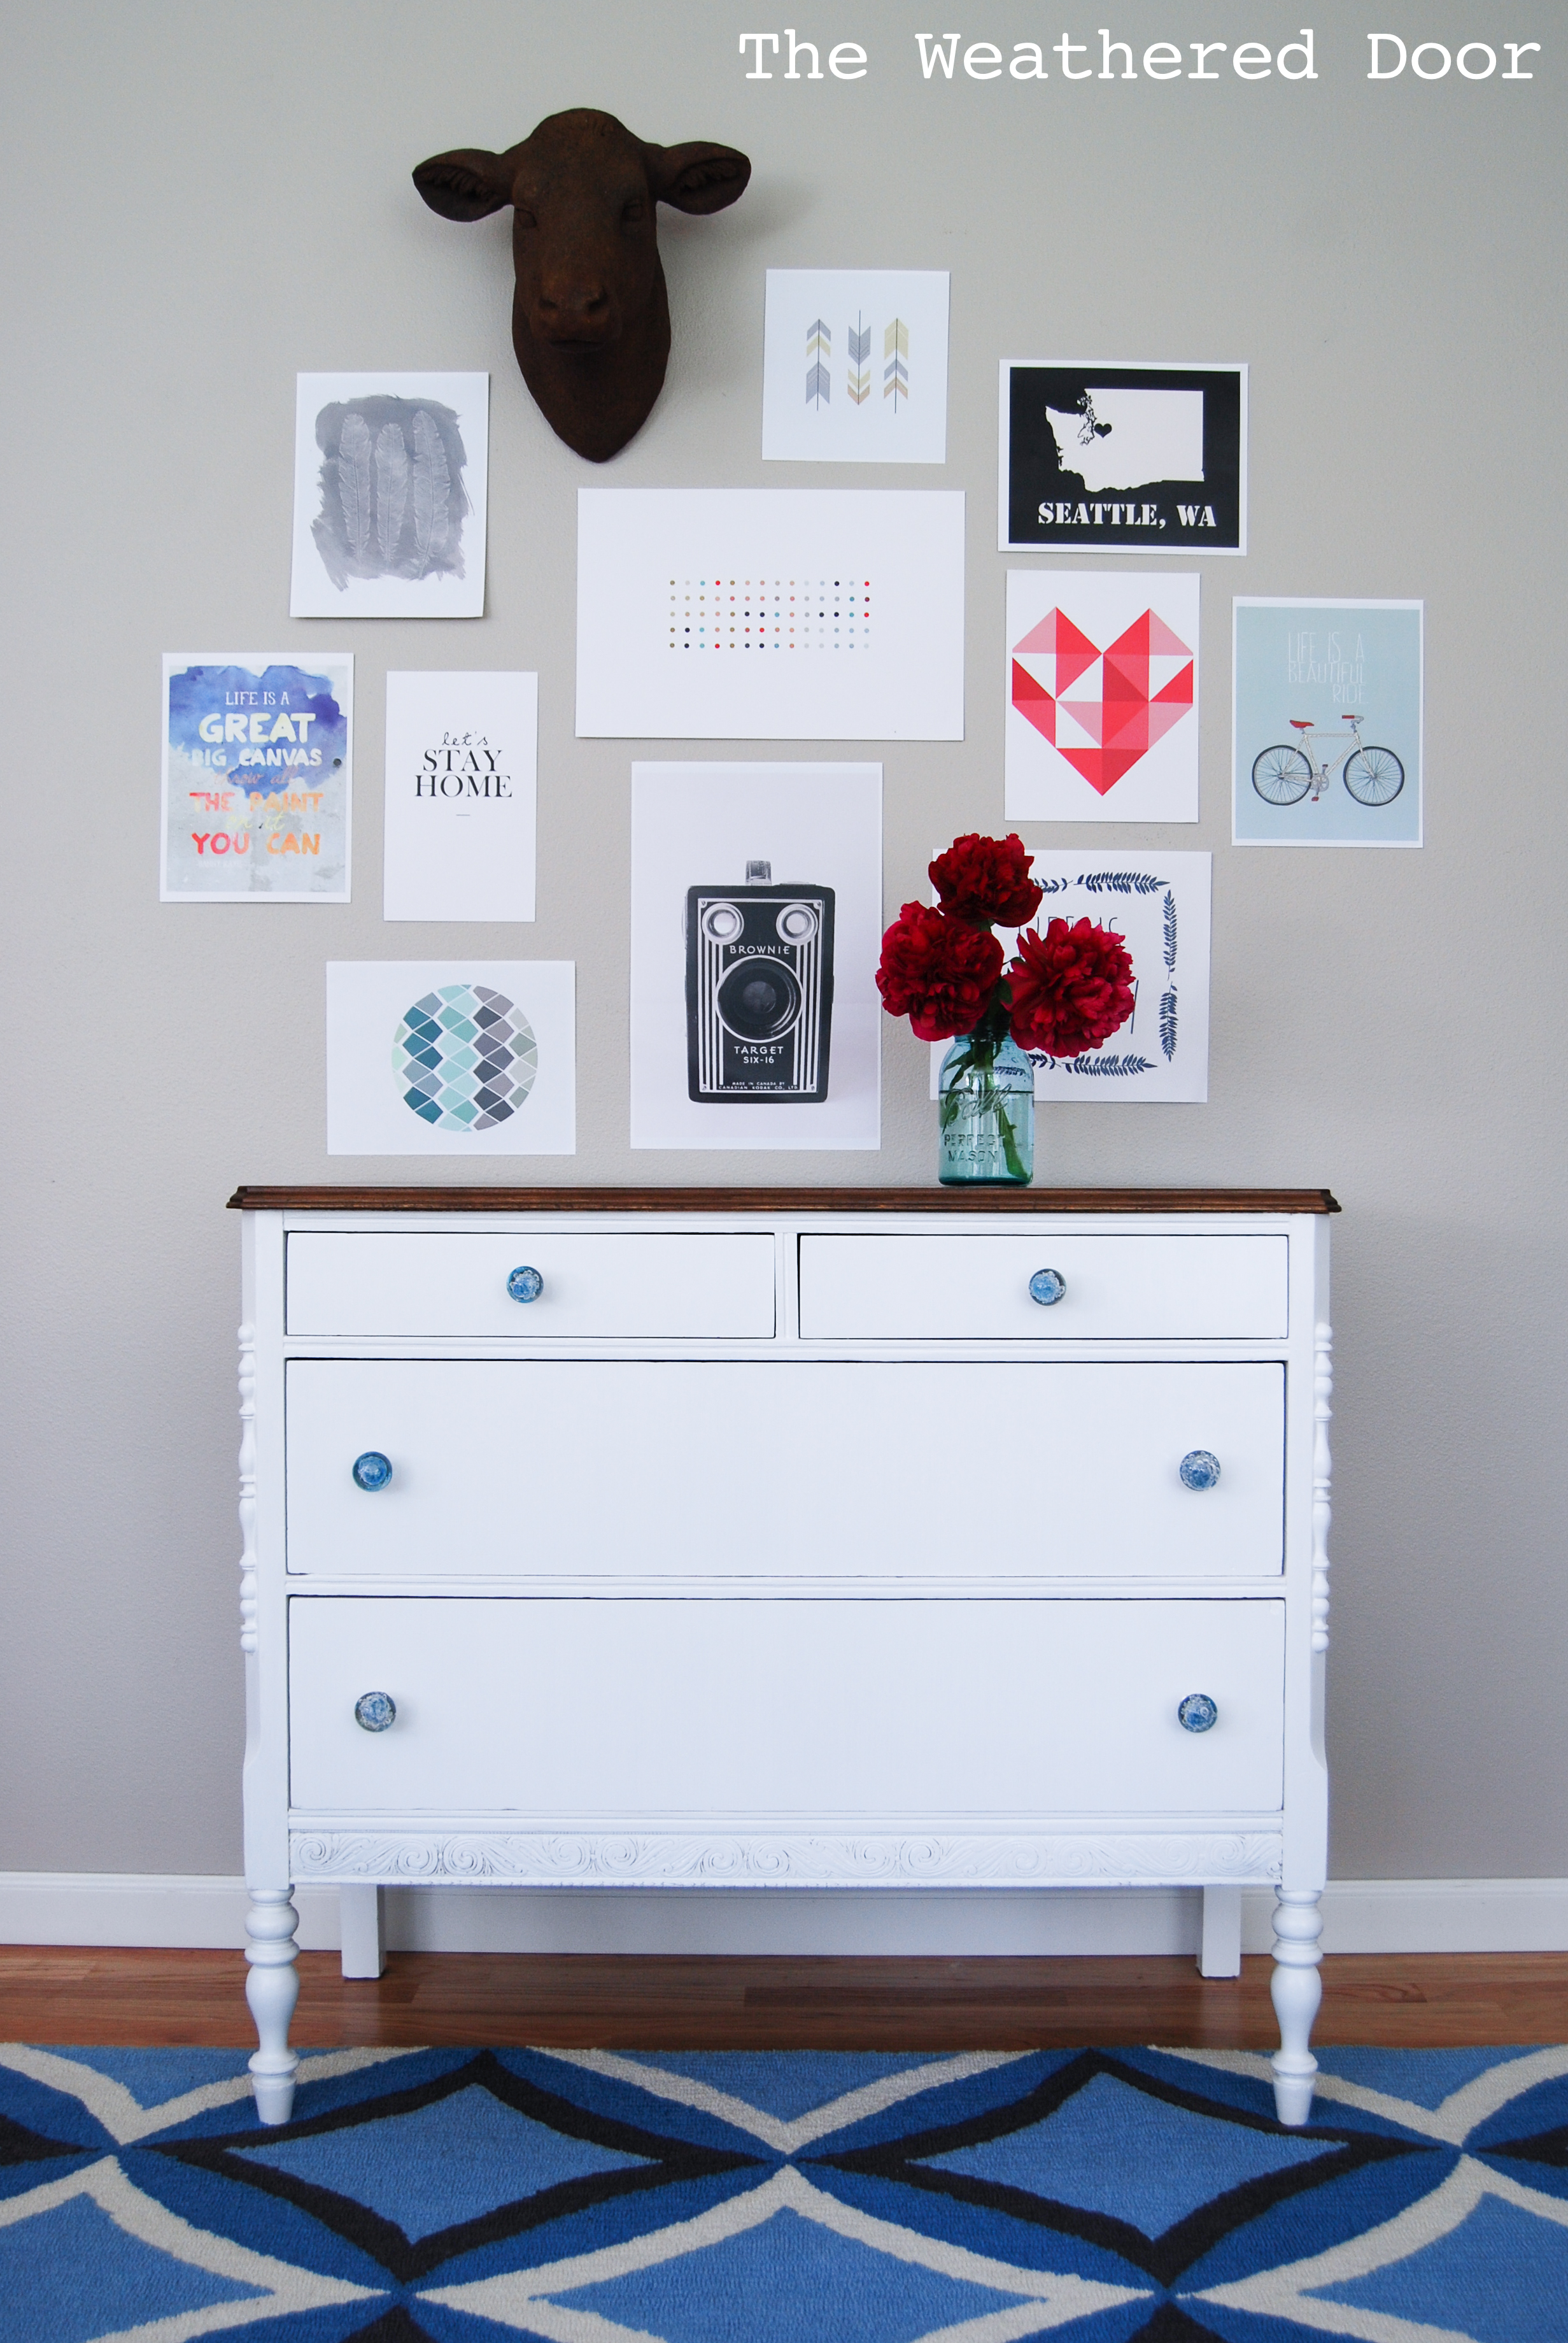
[[[298,1942],[338,1949],[338,1891],[295,1888]],[[244,1945],[244,1881],[0,1872],[0,1945]],[[1268,1952],[1273,1895],[1242,1893]],[[394,1952],[1195,1952],[1195,1888],[389,1888]],[[1568,1879],[1331,1879],[1324,1952],[1568,1952]]]

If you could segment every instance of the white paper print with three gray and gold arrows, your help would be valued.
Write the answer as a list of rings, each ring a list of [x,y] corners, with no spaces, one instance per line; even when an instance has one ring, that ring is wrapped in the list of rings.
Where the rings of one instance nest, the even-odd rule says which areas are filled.
[[[769,269],[762,455],[947,462],[947,269]]]

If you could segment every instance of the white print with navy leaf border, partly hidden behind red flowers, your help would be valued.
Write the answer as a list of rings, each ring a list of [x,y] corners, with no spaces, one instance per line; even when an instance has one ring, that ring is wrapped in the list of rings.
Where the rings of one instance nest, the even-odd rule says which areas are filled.
[[[1031,1050],[1036,1099],[1207,1099],[1209,1097],[1209,879],[1212,855],[1036,853],[1031,879],[1045,902],[1031,928],[1052,918],[1111,928],[1132,956],[1132,1017],[1099,1050],[1045,1057]],[[1015,930],[998,928],[1008,958]],[[930,1097],[947,1043],[930,1045]]]

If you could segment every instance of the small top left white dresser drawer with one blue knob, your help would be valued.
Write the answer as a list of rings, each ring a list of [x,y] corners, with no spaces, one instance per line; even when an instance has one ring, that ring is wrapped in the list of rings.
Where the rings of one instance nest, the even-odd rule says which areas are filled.
[[[288,1333],[766,1340],[773,1333],[773,1237],[766,1230],[295,1230],[288,1237]]]

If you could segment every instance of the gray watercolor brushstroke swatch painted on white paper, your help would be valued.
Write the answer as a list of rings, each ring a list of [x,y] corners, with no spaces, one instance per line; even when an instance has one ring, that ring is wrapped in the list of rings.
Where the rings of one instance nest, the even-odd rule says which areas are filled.
[[[462,576],[469,462],[457,415],[434,398],[333,401],[316,415],[321,511],[312,522],[326,574]]]

